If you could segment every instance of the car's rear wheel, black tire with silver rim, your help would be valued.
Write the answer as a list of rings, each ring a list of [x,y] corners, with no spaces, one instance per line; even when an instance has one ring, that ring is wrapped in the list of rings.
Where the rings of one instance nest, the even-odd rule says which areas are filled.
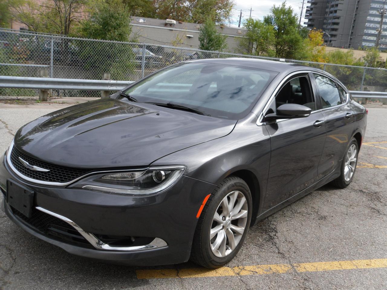
[[[352,154],[351,156],[349,156],[349,153],[350,153],[349,151],[352,149],[352,152],[353,152],[354,148],[356,148],[355,154]],[[338,188],[346,188],[352,182],[353,176],[355,175],[355,171],[356,171],[356,165],[358,164],[358,154],[359,154],[358,142],[356,141],[355,138],[352,138],[351,142],[349,142],[349,145],[345,150],[345,154],[344,154],[344,157],[342,159],[341,174],[334,181],[332,181],[333,186],[336,186]],[[349,157],[351,157],[351,158],[349,158]],[[349,162],[349,164],[351,165],[351,168],[353,168],[352,174],[350,176],[346,175],[347,174],[346,169],[349,168],[347,166],[348,160],[349,160],[348,158],[350,160],[353,160],[353,158],[355,159],[354,161]]]

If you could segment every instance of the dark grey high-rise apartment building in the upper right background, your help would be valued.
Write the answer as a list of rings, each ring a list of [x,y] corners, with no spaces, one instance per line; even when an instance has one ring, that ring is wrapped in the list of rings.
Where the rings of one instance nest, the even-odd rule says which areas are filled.
[[[387,0],[308,0],[304,22],[308,28],[322,29],[329,46],[387,49],[387,15],[379,34],[381,13]]]

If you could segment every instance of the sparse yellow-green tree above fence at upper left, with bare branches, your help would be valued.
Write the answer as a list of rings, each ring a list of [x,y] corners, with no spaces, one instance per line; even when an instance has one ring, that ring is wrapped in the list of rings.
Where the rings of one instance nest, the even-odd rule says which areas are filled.
[[[82,18],[86,3],[87,0],[29,0],[26,5],[14,7],[14,18],[31,31],[68,35]]]

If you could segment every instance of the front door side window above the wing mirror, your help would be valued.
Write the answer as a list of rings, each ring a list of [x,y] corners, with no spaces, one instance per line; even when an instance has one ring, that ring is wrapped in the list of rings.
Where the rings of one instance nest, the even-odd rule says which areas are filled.
[[[276,107],[283,104],[299,104],[316,109],[307,77],[296,77],[287,82],[276,96]]]

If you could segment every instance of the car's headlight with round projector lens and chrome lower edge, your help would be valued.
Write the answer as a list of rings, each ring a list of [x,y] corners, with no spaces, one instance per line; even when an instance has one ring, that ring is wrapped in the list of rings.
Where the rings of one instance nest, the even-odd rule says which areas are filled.
[[[178,181],[185,166],[150,167],[146,170],[105,172],[91,175],[72,185],[106,193],[146,195],[163,191]]]

